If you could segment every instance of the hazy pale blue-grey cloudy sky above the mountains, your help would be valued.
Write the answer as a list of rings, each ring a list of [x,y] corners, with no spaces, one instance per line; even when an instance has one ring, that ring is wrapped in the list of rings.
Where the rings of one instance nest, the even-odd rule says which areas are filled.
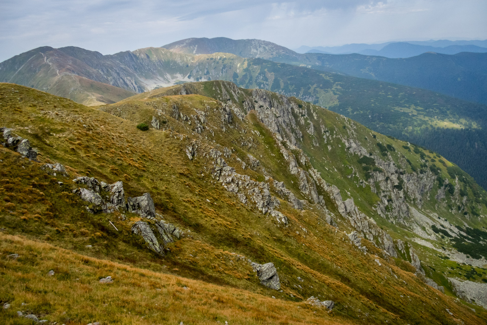
[[[103,54],[190,37],[297,48],[486,39],[487,0],[0,0],[0,62],[39,46]]]

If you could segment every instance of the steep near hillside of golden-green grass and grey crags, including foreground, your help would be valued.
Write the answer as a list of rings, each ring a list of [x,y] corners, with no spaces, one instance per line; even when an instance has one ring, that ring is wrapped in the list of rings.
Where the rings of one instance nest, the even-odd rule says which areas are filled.
[[[438,154],[229,82],[99,109],[0,87],[4,319],[486,323],[487,193]]]

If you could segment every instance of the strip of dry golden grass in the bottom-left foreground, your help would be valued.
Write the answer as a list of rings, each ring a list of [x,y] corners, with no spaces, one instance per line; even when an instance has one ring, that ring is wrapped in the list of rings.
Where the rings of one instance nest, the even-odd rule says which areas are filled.
[[[7,258],[14,252],[18,259]],[[357,324],[326,308],[99,260],[21,236],[0,233],[0,256],[1,290],[11,297],[2,301],[11,304],[0,312],[2,324],[30,324],[18,310],[66,325]],[[51,269],[54,276],[47,274]],[[99,283],[109,275],[113,283]]]

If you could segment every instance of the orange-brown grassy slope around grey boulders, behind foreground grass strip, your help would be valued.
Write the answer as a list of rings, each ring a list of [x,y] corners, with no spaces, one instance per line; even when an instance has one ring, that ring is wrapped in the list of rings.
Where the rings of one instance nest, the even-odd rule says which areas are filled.
[[[453,298],[426,287],[410,272],[411,266],[401,260],[380,258],[383,266],[377,266],[374,255],[363,255],[348,243],[342,232],[342,229],[347,229],[345,224],[336,232],[324,224],[317,210],[300,212],[281,202],[281,211],[291,220],[291,226],[283,229],[277,227],[270,217],[240,205],[219,184],[210,185],[210,177],[201,176],[201,173],[206,174],[205,167],[211,163],[210,160],[197,157],[188,161],[184,148],[190,139],[178,134],[191,137],[190,126],[165,115],[171,132],[150,129],[143,133],[135,129],[135,124],[147,121],[154,114],[154,103],[146,105],[147,101],[129,100],[114,105],[113,112],[120,105],[127,105],[127,109],[119,111],[130,113],[131,120],[127,120],[17,85],[2,84],[1,87],[3,102],[7,102],[1,109],[1,124],[13,127],[15,133],[28,137],[42,153],[41,161],[57,161],[69,166],[70,179],[75,174],[88,174],[106,182],[123,180],[126,196],[150,191],[156,209],[164,214],[166,220],[190,229],[191,237],[171,244],[171,251],[161,259],[143,249],[140,239],[130,234],[131,222],[138,220],[135,215],[129,214],[125,222],[117,220],[116,214],[92,215],[84,210],[76,196],[70,194],[74,185],[69,179],[46,177],[37,163],[24,162],[18,154],[1,149],[2,191],[3,197],[8,199],[2,202],[0,222],[8,233],[49,240],[55,246],[83,255],[247,289],[267,297],[275,295],[278,299],[299,302],[311,295],[320,295],[322,299],[337,302],[333,313],[341,323],[366,319],[371,324],[382,324],[385,320],[397,324],[456,324],[454,318],[444,312],[445,308],[466,324],[479,324],[483,320],[478,317],[486,317],[482,312],[473,315]],[[15,91],[21,93],[21,103]],[[211,98],[192,95],[167,96],[157,100],[156,108],[158,106],[167,112],[172,103],[177,103],[187,115],[194,112],[194,108],[205,110],[208,105],[208,125],[215,131],[220,128],[219,115],[211,114],[213,107],[217,108],[219,104]],[[329,115],[328,126],[332,127],[336,115],[326,111],[320,114]],[[263,134],[262,138],[254,139],[256,147],[250,153],[254,156],[262,154],[260,160],[266,168],[282,164],[277,154],[271,155],[277,152],[276,144],[259,121],[252,115],[247,122],[235,116],[234,121],[234,128],[215,132],[214,139],[218,144],[235,147],[236,156],[244,158],[247,152],[232,141],[242,137],[238,130],[256,128]],[[343,120],[338,123],[343,123]],[[208,131],[202,135],[213,139]],[[249,138],[248,135],[245,137]],[[214,144],[208,141],[205,147],[209,149],[210,145]],[[270,148],[264,149],[265,146]],[[340,156],[338,151],[344,148],[335,150]],[[342,158],[344,154],[341,153]],[[235,158],[232,155],[228,163],[235,164]],[[329,159],[335,161],[333,156]],[[22,165],[26,169],[21,168]],[[243,171],[237,164],[235,167],[237,172],[263,180],[257,172]],[[327,177],[333,178],[333,183],[341,188],[338,175],[345,167],[340,169],[337,165],[337,168],[337,174]],[[275,177],[282,177],[279,180],[293,188],[293,183],[289,184],[293,178],[286,169],[281,168],[279,172],[282,174]],[[64,185],[58,187],[57,180],[64,181]],[[347,184],[347,180],[342,181]],[[111,228],[107,217],[115,222],[120,232]],[[297,230],[302,231],[301,227],[308,229],[308,235],[296,233]],[[87,249],[86,245],[94,248]],[[368,247],[371,252],[381,254],[373,246]],[[230,252],[244,254],[259,263],[275,263],[279,267],[283,293],[260,286],[246,263],[230,261],[234,258]],[[190,253],[193,257],[188,255]],[[164,265],[167,268],[163,268]],[[399,279],[385,277],[390,274],[389,268]],[[297,276],[305,279],[304,285],[296,280]],[[408,297],[408,304],[398,297],[398,292]],[[17,298],[14,298],[17,304]],[[88,317],[84,311],[79,312],[76,321]],[[145,321],[140,322],[144,324]],[[252,324],[258,322],[249,321]]]

